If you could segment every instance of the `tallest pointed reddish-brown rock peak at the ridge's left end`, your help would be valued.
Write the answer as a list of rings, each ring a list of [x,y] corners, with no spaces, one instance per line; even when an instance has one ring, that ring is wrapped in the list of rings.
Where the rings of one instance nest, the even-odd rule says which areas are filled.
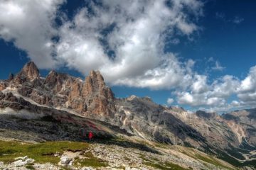
[[[25,75],[28,79],[35,79],[39,77],[39,70],[34,62],[28,62],[23,69],[21,69],[20,74]]]

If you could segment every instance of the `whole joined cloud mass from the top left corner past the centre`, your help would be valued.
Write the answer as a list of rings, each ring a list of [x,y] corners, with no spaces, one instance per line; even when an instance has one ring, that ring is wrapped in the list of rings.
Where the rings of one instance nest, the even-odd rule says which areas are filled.
[[[164,45],[166,38],[176,44],[176,35],[198,30],[191,18],[201,16],[201,1],[90,1],[53,26],[63,3],[1,1],[1,38],[14,40],[40,68],[65,66],[85,75],[98,69],[112,85],[173,89],[190,79],[188,65],[165,53]]]

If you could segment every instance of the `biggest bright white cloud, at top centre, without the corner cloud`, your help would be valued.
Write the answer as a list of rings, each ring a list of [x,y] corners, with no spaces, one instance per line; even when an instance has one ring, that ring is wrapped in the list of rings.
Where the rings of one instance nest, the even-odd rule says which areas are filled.
[[[188,6],[192,2],[197,5]],[[184,35],[193,33],[197,27],[187,19],[183,8],[190,8],[199,15],[201,4],[194,0],[172,3],[170,8],[165,1],[102,1],[103,6],[93,6],[95,16],[90,16],[86,8],[82,8],[74,21],[61,29],[58,55],[69,67],[80,72],[100,69],[110,84],[151,89],[180,86],[189,75],[176,55],[164,54],[164,40],[167,33],[174,36],[174,30]],[[103,38],[115,52],[114,60],[110,60],[99,42],[102,38],[100,30],[112,24],[113,30]],[[68,37],[70,34],[71,38]],[[78,54],[63,50],[63,44],[67,43],[69,49],[79,49]],[[90,50],[81,50],[85,44],[91,46]]]

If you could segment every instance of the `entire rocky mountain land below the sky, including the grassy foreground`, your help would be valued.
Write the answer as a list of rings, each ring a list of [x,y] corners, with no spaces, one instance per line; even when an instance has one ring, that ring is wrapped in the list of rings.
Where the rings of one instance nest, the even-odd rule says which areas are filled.
[[[114,98],[98,71],[41,77],[28,62],[0,81],[0,117],[0,169],[256,169],[255,109],[188,113]]]

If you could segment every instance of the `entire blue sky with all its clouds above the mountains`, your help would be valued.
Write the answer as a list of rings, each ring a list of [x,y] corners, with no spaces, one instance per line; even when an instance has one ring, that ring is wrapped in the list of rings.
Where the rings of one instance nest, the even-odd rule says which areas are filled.
[[[256,1],[40,3],[0,2],[0,79],[33,60],[43,76],[55,69],[84,79],[100,69],[116,97],[192,111],[255,105]]]

